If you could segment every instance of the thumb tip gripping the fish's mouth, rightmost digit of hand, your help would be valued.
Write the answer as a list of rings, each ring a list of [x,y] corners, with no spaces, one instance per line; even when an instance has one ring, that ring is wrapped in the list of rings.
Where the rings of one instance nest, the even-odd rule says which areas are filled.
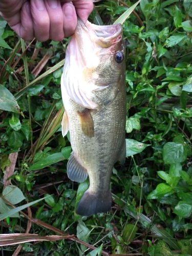
[[[93,11],[92,0],[73,0],[73,5],[79,18],[86,23],[88,16]]]

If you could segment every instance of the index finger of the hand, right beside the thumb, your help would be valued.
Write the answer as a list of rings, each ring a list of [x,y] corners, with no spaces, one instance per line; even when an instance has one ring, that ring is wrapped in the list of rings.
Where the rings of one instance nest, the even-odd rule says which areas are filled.
[[[71,36],[75,28],[77,26],[77,15],[75,11],[75,7],[73,4],[70,3],[65,3],[62,6],[63,10],[63,30],[65,33],[65,36]]]

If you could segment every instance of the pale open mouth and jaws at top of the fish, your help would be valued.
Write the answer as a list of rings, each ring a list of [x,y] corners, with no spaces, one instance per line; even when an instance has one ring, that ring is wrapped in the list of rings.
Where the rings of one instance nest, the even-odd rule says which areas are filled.
[[[89,35],[92,42],[95,42],[96,45],[102,48],[109,48],[122,39],[123,28],[121,24],[99,26],[91,24],[89,21],[84,24],[82,20],[78,18],[76,29],[82,31],[82,33],[77,33],[77,37],[86,33]],[[82,40],[83,37],[77,39]]]

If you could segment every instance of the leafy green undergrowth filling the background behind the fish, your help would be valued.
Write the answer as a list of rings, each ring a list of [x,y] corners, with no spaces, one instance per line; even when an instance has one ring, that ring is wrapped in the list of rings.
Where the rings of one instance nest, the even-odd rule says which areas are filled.
[[[113,170],[111,211],[83,219],[74,208],[88,181],[68,179],[71,146],[60,127],[69,39],[30,44],[2,23],[2,39],[13,49],[0,47],[0,220],[1,233],[9,234],[0,234],[2,255],[20,243],[19,255],[192,254],[190,2],[142,0],[123,24],[127,158]],[[90,21],[113,24],[134,3],[98,2]]]

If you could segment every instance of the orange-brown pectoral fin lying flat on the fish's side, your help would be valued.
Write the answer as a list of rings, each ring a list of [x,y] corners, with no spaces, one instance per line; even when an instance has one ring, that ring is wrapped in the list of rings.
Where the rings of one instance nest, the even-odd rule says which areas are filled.
[[[94,136],[94,123],[93,118],[88,109],[85,109],[83,112],[77,112],[80,119],[81,130],[84,135],[88,137]]]

